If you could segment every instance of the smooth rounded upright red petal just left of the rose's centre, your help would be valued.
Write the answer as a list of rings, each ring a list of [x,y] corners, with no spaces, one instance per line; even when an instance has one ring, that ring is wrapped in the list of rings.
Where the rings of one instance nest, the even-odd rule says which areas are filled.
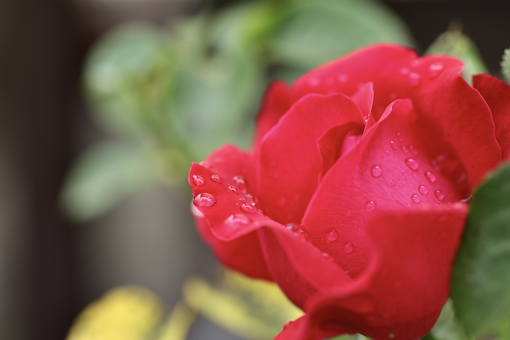
[[[262,139],[257,151],[259,198],[268,216],[299,222],[317,188],[321,156],[316,140],[331,126],[363,123],[360,109],[343,94],[301,98]]]

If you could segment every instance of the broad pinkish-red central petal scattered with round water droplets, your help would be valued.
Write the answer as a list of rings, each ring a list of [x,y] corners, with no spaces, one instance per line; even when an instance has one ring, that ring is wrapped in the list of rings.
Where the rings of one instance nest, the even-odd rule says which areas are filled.
[[[409,99],[397,100],[360,144],[329,169],[301,224],[317,248],[356,277],[370,257],[369,218],[468,197],[466,179],[441,134],[413,111]]]

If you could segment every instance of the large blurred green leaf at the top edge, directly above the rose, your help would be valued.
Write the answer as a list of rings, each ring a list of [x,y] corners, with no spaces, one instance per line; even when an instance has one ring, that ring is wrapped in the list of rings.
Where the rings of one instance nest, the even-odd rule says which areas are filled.
[[[370,0],[293,0],[271,41],[271,60],[308,70],[376,42],[413,46],[403,21]]]

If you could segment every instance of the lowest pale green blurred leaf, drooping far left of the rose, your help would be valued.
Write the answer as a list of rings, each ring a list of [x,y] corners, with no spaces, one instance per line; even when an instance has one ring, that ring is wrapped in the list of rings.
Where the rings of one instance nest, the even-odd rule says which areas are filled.
[[[71,169],[61,193],[68,214],[95,218],[154,179],[139,147],[103,142],[87,150]]]

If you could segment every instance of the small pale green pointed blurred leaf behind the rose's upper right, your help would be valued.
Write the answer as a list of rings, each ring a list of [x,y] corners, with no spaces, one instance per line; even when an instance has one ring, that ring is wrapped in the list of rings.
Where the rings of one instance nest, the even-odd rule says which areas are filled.
[[[471,85],[474,74],[489,72],[478,47],[473,40],[462,33],[462,26],[457,22],[452,22],[448,31],[441,34],[428,47],[425,54],[445,54],[462,59],[465,65],[461,75]]]

